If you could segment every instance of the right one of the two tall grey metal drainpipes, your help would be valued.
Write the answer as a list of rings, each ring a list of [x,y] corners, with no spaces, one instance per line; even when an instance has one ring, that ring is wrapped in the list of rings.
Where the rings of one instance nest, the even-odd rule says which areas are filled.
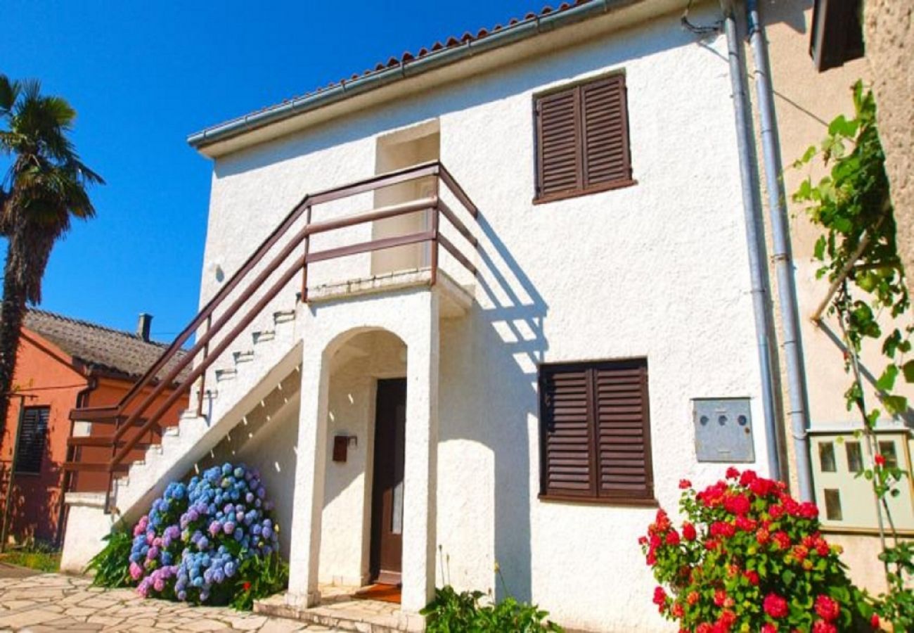
[[[771,243],[774,270],[778,278],[778,299],[783,327],[784,363],[787,370],[787,391],[790,400],[791,431],[794,458],[797,464],[797,484],[800,499],[813,500],[813,469],[809,454],[809,414],[806,407],[806,374],[803,371],[800,316],[796,286],[793,279],[790,224],[784,198],[781,174],[781,143],[774,114],[774,89],[771,86],[771,66],[765,27],[759,16],[757,0],[747,0],[746,18],[749,24],[749,46],[755,64],[755,91],[759,102],[761,152],[765,164],[765,184],[771,217]]]

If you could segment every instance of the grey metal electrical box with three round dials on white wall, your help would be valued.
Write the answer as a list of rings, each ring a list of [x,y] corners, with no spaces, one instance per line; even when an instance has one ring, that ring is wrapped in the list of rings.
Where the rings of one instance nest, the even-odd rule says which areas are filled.
[[[755,461],[749,398],[696,398],[692,404],[699,462]]]

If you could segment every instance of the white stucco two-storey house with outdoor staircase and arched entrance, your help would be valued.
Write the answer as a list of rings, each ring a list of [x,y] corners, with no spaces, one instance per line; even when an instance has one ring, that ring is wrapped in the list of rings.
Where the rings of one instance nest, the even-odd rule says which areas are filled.
[[[300,615],[331,585],[400,584],[415,628],[450,583],[569,628],[669,628],[637,544],[656,508],[781,458],[743,78],[685,5],[544,9],[191,136],[213,179],[177,345],[197,334],[201,406],[69,496],[64,567],[229,458],[278,501]],[[154,429],[137,408],[76,412],[75,435]]]

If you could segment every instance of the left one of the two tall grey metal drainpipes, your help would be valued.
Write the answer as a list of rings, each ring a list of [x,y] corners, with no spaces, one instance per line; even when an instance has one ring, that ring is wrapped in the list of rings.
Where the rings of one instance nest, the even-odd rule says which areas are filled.
[[[771,477],[781,478],[781,450],[778,445],[777,405],[774,395],[774,376],[771,362],[771,302],[765,233],[761,222],[761,200],[755,177],[758,167],[753,151],[753,135],[749,119],[749,99],[746,96],[744,66],[742,63],[737,34],[737,20],[733,5],[721,0],[724,11],[724,32],[727,35],[727,57],[730,67],[730,83],[733,90],[733,113],[737,126],[737,149],[739,151],[739,180],[742,185],[743,216],[746,223],[746,241],[749,246],[749,282],[752,294],[752,311],[755,315],[756,343],[759,348],[759,370],[761,374],[761,405],[765,415],[765,436],[768,453],[768,470]]]

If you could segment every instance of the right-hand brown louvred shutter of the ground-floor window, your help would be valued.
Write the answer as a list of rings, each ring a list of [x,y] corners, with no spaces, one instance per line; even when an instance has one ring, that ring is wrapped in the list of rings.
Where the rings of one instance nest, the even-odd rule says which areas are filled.
[[[647,363],[594,369],[600,497],[653,499]]]

